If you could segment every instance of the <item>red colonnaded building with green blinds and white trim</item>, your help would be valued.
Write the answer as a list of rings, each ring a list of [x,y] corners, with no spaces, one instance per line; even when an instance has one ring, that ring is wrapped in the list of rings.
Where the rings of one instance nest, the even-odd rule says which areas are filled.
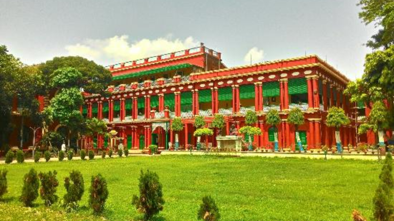
[[[270,148],[274,130],[265,123],[269,109],[279,110],[282,118],[277,126],[279,147],[295,149],[294,126],[286,122],[288,110],[294,107],[305,113],[305,124],[299,130],[308,149],[335,145],[334,129],[325,125],[331,106],[342,107],[352,118],[351,125],[340,129],[342,144],[356,144],[355,105],[343,94],[349,79],[316,55],[227,68],[221,53],[201,44],[111,65],[109,70],[113,85],[117,85],[108,88],[111,96],[86,96],[81,111],[86,117],[108,122],[128,149],[144,149],[150,144],[167,148],[168,142],[175,139],[169,130],[174,117],[182,118],[184,123],[179,140],[183,146],[196,144],[192,136],[196,115],[204,116],[210,127],[213,115],[223,114],[223,131],[229,134],[231,125],[238,129],[244,125],[247,110],[256,111],[256,127],[263,131],[254,137],[254,142]],[[99,147],[108,145],[100,136],[89,141]],[[208,143],[216,146],[214,136],[208,138]]]

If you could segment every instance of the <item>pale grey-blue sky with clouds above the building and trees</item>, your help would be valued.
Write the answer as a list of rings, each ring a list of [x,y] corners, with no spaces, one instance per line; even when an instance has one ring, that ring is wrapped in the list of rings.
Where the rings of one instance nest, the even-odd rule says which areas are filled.
[[[358,1],[0,0],[0,44],[25,64],[80,55],[107,66],[204,42],[227,67],[316,54],[355,79],[376,32]]]

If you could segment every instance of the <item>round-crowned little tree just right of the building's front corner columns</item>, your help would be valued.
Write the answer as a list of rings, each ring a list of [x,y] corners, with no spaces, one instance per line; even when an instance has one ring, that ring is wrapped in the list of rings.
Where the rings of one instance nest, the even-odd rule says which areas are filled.
[[[349,118],[346,116],[345,111],[340,107],[330,107],[327,113],[327,126],[335,127],[335,139],[336,149],[338,152],[342,152],[341,136],[339,128],[348,125],[350,123]]]

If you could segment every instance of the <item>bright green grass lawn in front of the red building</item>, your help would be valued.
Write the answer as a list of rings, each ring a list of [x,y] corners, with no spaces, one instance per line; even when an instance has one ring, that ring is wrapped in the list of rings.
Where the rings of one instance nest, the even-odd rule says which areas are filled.
[[[46,210],[41,198],[33,212],[22,208],[17,197],[22,177],[32,167],[37,171],[58,171],[60,198],[65,193],[63,178],[72,169],[80,170],[85,180],[82,208],[73,214],[64,214],[57,206]],[[366,160],[156,156],[24,163],[0,168],[9,171],[9,192],[4,195],[7,202],[0,203],[0,217],[15,213],[16,218],[9,220],[20,220],[18,211],[49,213],[60,217],[59,220],[102,220],[87,208],[90,178],[97,173],[107,179],[110,192],[102,216],[114,221],[139,220],[141,215],[132,207],[131,199],[138,194],[140,170],[150,169],[158,173],[166,201],[156,220],[197,220],[202,197],[212,195],[219,206],[221,221],[338,221],[351,220],[353,208],[367,218],[372,216],[372,197],[381,164]],[[36,218],[41,220],[36,215],[24,220]]]

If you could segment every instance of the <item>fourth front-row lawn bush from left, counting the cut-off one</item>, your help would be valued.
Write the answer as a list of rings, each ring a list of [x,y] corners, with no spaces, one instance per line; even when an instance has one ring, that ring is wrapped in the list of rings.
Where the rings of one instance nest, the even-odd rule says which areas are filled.
[[[73,170],[70,173],[70,177],[64,178],[64,187],[67,193],[64,195],[64,205],[67,208],[78,207],[78,201],[81,200],[82,195],[84,195],[84,177],[80,171]]]

